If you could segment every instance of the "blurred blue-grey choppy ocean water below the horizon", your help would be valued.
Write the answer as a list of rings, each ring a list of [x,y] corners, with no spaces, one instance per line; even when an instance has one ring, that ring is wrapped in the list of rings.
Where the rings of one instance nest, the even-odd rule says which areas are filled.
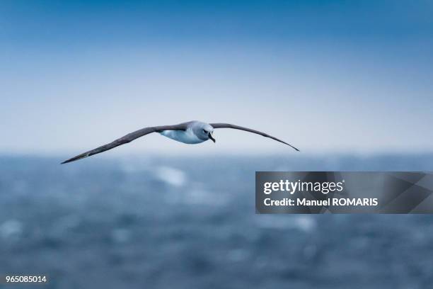
[[[432,215],[254,204],[255,171],[433,171],[433,154],[62,159],[0,157],[0,275],[45,274],[43,288],[433,288]]]

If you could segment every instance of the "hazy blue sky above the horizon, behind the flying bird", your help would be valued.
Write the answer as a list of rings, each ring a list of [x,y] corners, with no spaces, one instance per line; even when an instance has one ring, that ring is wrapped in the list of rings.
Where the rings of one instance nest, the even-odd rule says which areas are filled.
[[[0,152],[224,121],[306,152],[431,152],[432,1],[1,1]],[[239,132],[118,153],[284,152]],[[108,152],[111,154],[111,152]]]

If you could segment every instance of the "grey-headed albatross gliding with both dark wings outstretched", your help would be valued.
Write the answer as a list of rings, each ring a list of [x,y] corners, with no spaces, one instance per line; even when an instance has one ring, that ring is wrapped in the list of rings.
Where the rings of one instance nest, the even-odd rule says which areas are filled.
[[[231,125],[229,123],[202,123],[201,121],[192,120],[187,123],[180,123],[178,125],[160,125],[155,127],[142,128],[141,130],[137,130],[123,137],[120,137],[119,139],[114,140],[107,145],[97,147],[96,149],[92,149],[88,152],[83,152],[83,154],[79,154],[76,157],[67,159],[66,161],[62,162],[62,164],[74,162],[79,159],[84,159],[86,157],[93,156],[93,154],[99,154],[100,152],[105,152],[108,149],[112,149],[120,145],[125,145],[128,142],[132,142],[133,140],[139,137],[143,137],[144,135],[149,135],[149,133],[152,132],[159,132],[165,137],[169,137],[172,140],[183,142],[185,144],[199,144],[200,142],[206,142],[207,140],[212,140],[213,142],[216,142],[213,135],[215,128],[233,128],[235,130],[245,130],[246,132],[253,132],[257,135],[262,135],[263,137],[270,137],[272,140],[282,142],[283,144],[296,149],[296,147],[289,145],[287,142],[283,142],[282,140],[277,139],[277,137],[272,137],[272,135],[267,135],[265,132],[259,132],[258,130],[243,128],[241,126]],[[299,152],[299,149],[296,149],[296,151]]]

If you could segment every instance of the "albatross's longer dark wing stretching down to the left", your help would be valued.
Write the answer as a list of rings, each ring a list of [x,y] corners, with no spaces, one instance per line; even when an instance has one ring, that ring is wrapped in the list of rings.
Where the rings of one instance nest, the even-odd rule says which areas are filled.
[[[161,125],[156,127],[149,127],[149,128],[142,128],[141,130],[137,130],[135,132],[131,132],[123,137],[120,137],[119,139],[110,142],[107,145],[103,145],[100,147],[97,147],[96,149],[92,149],[88,152],[83,152],[82,154],[79,154],[76,157],[73,157],[71,159],[67,159],[66,161],[62,162],[62,164],[66,164],[69,162],[74,162],[79,159],[84,159],[85,157],[93,156],[93,154],[99,154],[100,152],[105,152],[108,149],[112,149],[114,147],[118,147],[120,145],[125,145],[128,142],[132,142],[133,140],[142,137],[144,135],[149,135],[149,133],[152,132],[161,132],[163,130],[186,130],[187,129],[187,123],[180,123],[179,125]]]

